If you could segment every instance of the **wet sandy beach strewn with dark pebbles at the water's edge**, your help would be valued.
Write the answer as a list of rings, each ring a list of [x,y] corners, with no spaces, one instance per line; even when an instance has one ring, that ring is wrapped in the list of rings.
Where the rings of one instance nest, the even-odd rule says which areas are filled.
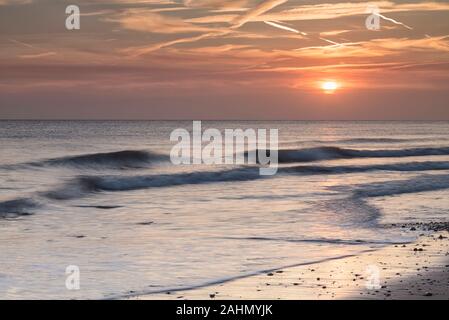
[[[449,299],[449,224],[404,226],[417,232],[433,232],[420,234],[408,244],[389,245],[359,255],[125,299]]]

